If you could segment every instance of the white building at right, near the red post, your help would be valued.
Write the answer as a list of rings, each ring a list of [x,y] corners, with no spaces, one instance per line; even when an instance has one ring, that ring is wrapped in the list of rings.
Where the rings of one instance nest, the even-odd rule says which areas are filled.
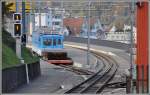
[[[113,26],[110,31],[106,34],[106,40],[130,43],[131,41],[131,26],[124,25],[123,31],[116,32],[116,27]],[[133,41],[136,43],[136,28],[133,27]]]

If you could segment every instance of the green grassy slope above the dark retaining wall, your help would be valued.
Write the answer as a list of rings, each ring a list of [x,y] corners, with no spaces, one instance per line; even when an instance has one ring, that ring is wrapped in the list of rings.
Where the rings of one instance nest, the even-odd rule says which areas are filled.
[[[16,43],[11,35],[4,31],[2,32],[2,68],[9,68],[20,64],[19,58],[16,56]],[[25,63],[33,63],[39,60],[37,56],[32,56],[29,49],[22,47],[22,57]]]

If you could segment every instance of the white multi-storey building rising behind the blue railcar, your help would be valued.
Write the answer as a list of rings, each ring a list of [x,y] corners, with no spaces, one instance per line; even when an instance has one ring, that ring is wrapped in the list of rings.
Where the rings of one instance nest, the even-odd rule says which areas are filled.
[[[63,14],[64,10],[58,8],[48,8],[45,12],[34,13],[34,30],[47,30],[54,33],[63,33]],[[47,32],[46,31],[46,32]]]

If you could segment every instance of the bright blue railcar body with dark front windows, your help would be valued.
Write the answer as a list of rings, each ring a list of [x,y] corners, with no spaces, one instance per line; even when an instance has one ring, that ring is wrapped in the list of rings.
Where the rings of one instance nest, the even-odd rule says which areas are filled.
[[[44,52],[59,52],[64,48],[63,40],[63,35],[33,32],[32,50],[40,56]]]

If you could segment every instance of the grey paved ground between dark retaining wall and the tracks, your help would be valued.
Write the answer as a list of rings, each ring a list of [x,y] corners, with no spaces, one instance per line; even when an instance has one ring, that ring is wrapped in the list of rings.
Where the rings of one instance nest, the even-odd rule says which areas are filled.
[[[55,93],[62,90],[62,85],[73,87],[84,79],[72,72],[66,71],[59,66],[55,66],[41,60],[42,74],[37,79],[24,85],[13,93]],[[66,89],[66,88],[63,88]]]

